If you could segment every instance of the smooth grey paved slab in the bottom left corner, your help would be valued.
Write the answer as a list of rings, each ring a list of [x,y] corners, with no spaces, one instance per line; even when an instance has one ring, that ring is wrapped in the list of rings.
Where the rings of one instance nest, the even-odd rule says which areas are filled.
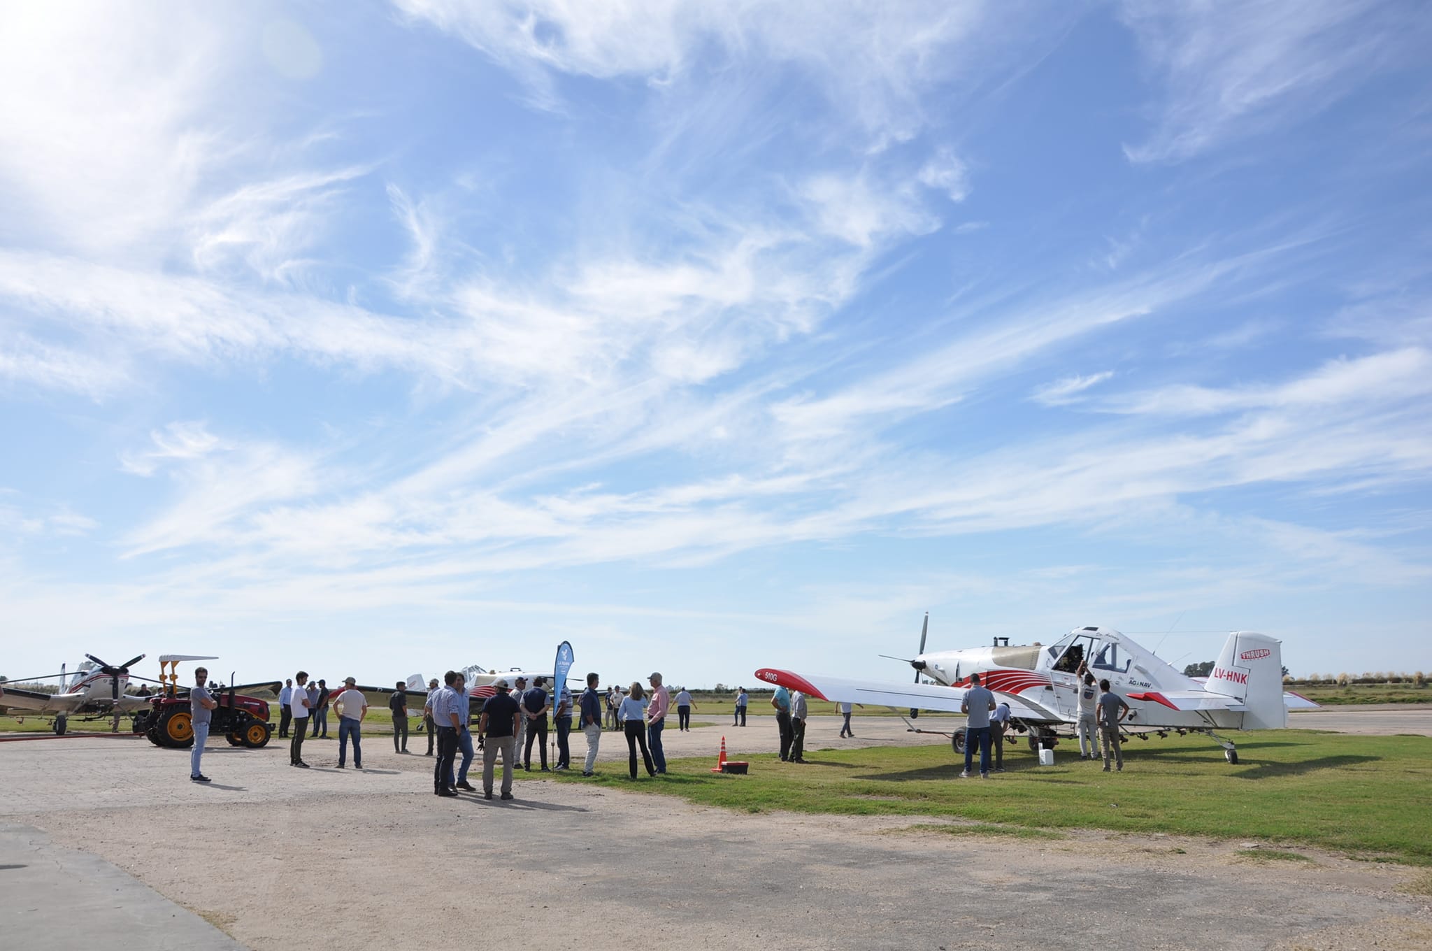
[[[3,947],[242,951],[208,921],[97,855],[0,822]]]

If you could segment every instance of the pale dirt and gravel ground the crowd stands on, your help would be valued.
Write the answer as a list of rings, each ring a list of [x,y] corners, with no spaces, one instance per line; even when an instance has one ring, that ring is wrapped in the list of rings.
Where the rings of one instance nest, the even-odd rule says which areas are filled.
[[[839,745],[836,730],[813,723],[812,746]],[[858,732],[861,745],[947,742],[898,719]],[[715,756],[722,735],[735,758],[768,749],[775,729],[752,718],[669,730],[667,749]],[[617,740],[604,736],[607,763],[624,756]],[[215,782],[200,786],[188,752],[143,740],[4,743],[0,816],[113,862],[255,950],[295,934],[358,947],[524,934],[587,948],[1432,947],[1432,899],[1399,891],[1425,888],[1426,872],[1402,866],[1307,849],[1315,862],[1260,862],[1237,841],[732,814],[540,778],[511,803],[440,799],[424,743],[410,748],[369,738],[359,773],[334,768],[334,740],[305,746],[309,771],[276,740],[211,745]]]

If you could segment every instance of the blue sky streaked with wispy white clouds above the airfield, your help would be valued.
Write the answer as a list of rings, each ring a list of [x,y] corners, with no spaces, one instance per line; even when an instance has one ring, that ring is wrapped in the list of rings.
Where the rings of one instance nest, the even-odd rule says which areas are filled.
[[[0,672],[1432,667],[1429,32],[9,4]]]

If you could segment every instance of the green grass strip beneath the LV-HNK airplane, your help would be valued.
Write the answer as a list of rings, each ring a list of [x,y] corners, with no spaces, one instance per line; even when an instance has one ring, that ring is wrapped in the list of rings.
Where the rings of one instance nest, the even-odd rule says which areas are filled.
[[[1007,749],[1008,772],[958,779],[948,746],[808,750],[806,765],[750,756],[749,776],[710,759],[672,761],[632,782],[620,765],[596,781],[746,812],[961,818],[1011,829],[1095,828],[1310,845],[1356,858],[1432,865],[1432,738],[1279,730],[1239,736],[1240,763],[1204,738],[1126,746],[1124,772],[1070,761],[1037,766]],[[962,763],[961,763],[962,765]]]

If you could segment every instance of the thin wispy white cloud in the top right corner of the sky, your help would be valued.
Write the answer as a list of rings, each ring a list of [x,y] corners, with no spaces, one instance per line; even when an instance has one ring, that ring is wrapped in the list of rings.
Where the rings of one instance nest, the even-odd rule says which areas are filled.
[[[1383,0],[1126,0],[1124,23],[1167,85],[1133,162],[1179,162],[1305,117],[1416,56],[1428,19]]]

